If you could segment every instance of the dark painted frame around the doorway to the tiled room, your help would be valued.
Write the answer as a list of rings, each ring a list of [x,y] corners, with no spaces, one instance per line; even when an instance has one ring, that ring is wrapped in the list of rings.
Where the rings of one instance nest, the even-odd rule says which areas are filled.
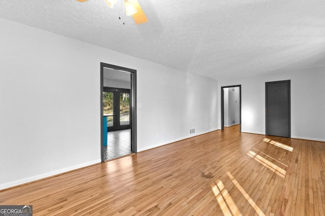
[[[116,65],[101,62],[101,159],[104,162],[104,145],[103,145],[103,91],[104,91],[104,68],[111,68],[128,72],[131,74],[131,103],[130,103],[130,121],[131,121],[131,151],[137,153],[137,70],[120,67]]]

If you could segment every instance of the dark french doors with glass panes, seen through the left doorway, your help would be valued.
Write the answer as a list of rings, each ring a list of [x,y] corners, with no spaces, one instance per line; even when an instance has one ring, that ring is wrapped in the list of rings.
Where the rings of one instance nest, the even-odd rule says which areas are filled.
[[[131,128],[130,90],[104,87],[103,105],[107,131]]]

